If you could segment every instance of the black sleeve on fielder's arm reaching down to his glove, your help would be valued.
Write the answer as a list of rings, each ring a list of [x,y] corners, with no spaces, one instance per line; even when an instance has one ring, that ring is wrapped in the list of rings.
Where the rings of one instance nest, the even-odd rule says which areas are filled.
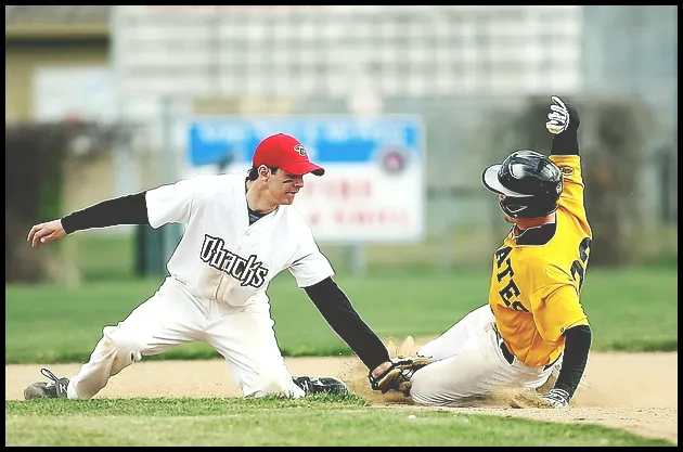
[[[373,371],[389,361],[389,352],[377,335],[360,318],[351,301],[332,277],[304,287],[332,330],[353,350],[360,360]]]

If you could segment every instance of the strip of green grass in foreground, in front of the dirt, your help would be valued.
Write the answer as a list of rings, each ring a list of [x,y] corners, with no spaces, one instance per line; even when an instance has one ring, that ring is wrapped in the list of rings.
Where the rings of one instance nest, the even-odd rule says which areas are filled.
[[[674,445],[596,425],[377,410],[356,396],[52,399],[4,406],[5,445]]]

